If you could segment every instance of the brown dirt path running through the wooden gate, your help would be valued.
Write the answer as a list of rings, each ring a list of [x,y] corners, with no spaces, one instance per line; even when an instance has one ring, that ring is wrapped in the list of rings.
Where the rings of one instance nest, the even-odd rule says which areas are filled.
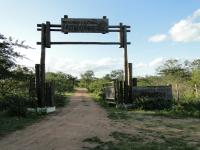
[[[108,137],[113,130],[105,110],[93,102],[86,90],[78,89],[69,106],[39,123],[0,140],[1,150],[79,150],[83,139]]]

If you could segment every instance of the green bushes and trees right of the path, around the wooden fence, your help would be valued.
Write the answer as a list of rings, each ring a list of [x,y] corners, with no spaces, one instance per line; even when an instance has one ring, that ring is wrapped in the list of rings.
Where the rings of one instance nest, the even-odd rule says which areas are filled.
[[[122,80],[123,71],[114,70],[102,78],[96,78],[90,70],[83,73],[81,77],[80,85],[102,99],[105,83],[116,79]],[[150,107],[157,102],[147,98],[132,100],[136,104],[134,110],[154,111],[165,116],[200,118],[200,59],[166,60],[157,68],[157,75],[138,77],[137,80],[139,87],[171,85],[173,100],[171,107],[168,108]]]

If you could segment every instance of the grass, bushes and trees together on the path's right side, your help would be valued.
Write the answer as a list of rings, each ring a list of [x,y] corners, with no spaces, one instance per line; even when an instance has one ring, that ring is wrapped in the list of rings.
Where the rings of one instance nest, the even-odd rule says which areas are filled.
[[[113,126],[119,125],[120,130],[112,131],[106,139],[97,136],[84,139],[84,149],[200,149],[200,59],[192,62],[167,60],[158,67],[157,75],[138,78],[138,86],[172,85],[174,99],[172,107],[166,109],[145,109],[146,99],[139,99],[134,109],[116,108],[102,97],[103,84],[115,78],[108,74],[100,79],[93,75],[90,79],[87,86],[91,96],[107,111]],[[96,84],[98,82],[102,84]],[[147,100],[145,105],[151,102]]]

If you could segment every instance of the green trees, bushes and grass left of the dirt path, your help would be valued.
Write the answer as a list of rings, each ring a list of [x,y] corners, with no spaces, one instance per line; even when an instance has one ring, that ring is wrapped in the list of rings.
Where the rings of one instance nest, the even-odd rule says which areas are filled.
[[[16,63],[17,59],[27,59],[16,52],[16,48],[31,49],[24,41],[19,42],[0,34],[0,137],[45,117],[44,113],[27,110],[37,107],[36,96],[31,97],[29,93],[30,80],[35,73],[34,69]],[[61,72],[47,73],[46,77],[55,82],[56,107],[67,105],[76,78]]]

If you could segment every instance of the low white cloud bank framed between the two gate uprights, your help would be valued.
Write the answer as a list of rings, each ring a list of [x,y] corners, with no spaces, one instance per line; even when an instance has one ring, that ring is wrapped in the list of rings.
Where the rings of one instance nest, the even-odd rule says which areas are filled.
[[[46,62],[47,71],[62,71],[74,76],[79,76],[86,70],[93,70],[97,76],[109,73],[111,70],[123,67],[123,61],[115,58],[101,58],[98,60],[63,60],[57,58],[49,58]]]

